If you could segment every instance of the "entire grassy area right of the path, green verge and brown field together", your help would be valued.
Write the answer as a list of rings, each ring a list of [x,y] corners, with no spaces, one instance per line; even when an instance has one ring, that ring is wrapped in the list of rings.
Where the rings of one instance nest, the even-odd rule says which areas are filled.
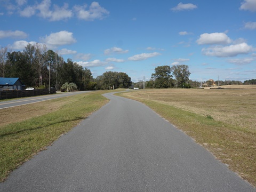
[[[148,105],[256,186],[256,89],[148,89],[122,95]]]

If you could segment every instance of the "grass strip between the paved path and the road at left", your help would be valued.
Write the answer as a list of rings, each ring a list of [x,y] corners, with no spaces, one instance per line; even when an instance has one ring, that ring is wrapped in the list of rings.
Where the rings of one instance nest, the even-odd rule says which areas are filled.
[[[108,99],[102,93],[106,92],[77,94],[0,110],[1,118],[6,119],[0,125],[0,181],[105,105]]]

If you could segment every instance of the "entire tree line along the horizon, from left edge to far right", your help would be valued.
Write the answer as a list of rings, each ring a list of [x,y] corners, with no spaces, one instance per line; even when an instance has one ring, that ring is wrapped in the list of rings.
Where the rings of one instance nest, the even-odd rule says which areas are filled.
[[[145,82],[146,89],[152,88],[190,88],[199,87],[201,82],[191,81],[187,65],[158,66],[151,79]],[[93,78],[90,69],[83,68],[71,59],[65,61],[58,52],[47,50],[44,44],[28,44],[21,51],[7,51],[7,47],[0,50],[0,77],[19,77],[29,87],[54,87],[61,90],[71,83],[70,90],[107,90],[117,88],[139,87],[143,82],[132,83],[131,78],[122,72],[107,71]],[[65,84],[66,83],[66,84]],[[256,79],[240,81],[216,81],[217,85],[256,84]],[[212,86],[212,81],[202,82],[203,86]],[[62,88],[63,89],[63,88]]]

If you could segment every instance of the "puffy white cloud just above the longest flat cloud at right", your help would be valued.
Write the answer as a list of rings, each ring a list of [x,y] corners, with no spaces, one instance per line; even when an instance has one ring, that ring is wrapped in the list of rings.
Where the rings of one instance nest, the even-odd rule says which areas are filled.
[[[204,33],[197,39],[197,44],[229,44],[232,40],[225,33]]]

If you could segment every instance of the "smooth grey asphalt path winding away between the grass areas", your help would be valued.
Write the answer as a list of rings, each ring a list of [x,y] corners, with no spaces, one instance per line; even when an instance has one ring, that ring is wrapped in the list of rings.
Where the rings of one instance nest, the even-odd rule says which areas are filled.
[[[11,173],[0,191],[256,191],[141,103],[110,102]]]

